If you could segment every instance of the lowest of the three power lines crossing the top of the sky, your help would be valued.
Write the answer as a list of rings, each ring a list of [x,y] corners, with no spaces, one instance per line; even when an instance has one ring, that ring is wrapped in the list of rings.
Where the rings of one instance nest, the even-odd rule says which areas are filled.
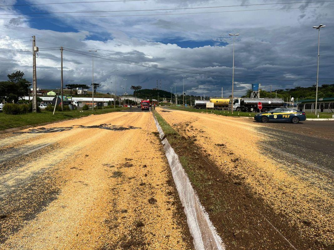
[[[0,19],[37,19],[37,18],[77,18],[77,17],[136,17],[136,16],[171,16],[171,15],[192,15],[192,14],[212,14],[226,12],[245,12],[245,11],[262,11],[262,10],[290,10],[290,9],[313,9],[313,8],[332,8],[334,6],[316,6],[316,7],[294,7],[294,8],[272,8],[272,9],[254,9],[254,10],[226,10],[226,11],[211,11],[211,12],[192,12],[192,13],[168,13],[168,14],[143,14],[143,15],[109,15],[109,16],[42,16],[42,17],[13,17]]]

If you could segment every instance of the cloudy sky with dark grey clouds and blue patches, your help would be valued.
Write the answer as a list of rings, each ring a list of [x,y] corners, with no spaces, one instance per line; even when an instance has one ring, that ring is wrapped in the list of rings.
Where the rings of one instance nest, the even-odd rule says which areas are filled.
[[[129,93],[132,93],[130,85],[154,88],[157,80],[159,88],[161,80],[161,88],[170,91],[173,87],[173,92],[173,83],[177,83],[176,92],[181,93],[181,75],[186,75],[184,88],[188,94],[215,96],[220,95],[223,87],[224,96],[228,96],[233,53],[233,37],[228,34],[239,33],[235,37],[236,95],[243,95],[251,83],[261,83],[268,91],[270,85],[273,91],[311,86],[316,79],[318,48],[318,31],[312,27],[324,24],[326,27],[320,31],[319,79],[320,84],[334,83],[334,1],[142,0],[40,4],[82,1],[92,0],[0,0],[0,80],[7,80],[8,73],[21,70],[32,81],[31,51],[4,51],[31,49],[30,38],[35,35],[41,50],[37,58],[39,88],[60,86],[62,45],[64,84],[91,84],[92,57],[88,50],[98,50],[94,58],[94,81],[102,84],[100,91],[114,90],[116,80],[117,92],[121,93],[123,79],[128,79]],[[317,2],[306,3],[312,1]],[[231,5],[234,6],[224,7]],[[114,69],[118,71],[115,73]]]

